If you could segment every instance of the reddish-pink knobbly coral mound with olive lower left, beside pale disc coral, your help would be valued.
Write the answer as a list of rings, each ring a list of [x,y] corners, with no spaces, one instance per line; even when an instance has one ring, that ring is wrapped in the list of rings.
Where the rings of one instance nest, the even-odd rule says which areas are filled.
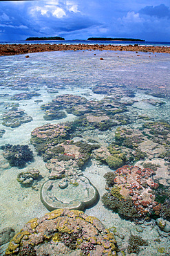
[[[159,184],[154,182],[154,174],[149,168],[125,165],[113,174],[111,188],[109,176],[105,176],[109,192],[103,195],[103,204],[127,219],[158,217],[163,204],[158,200],[156,190],[159,190]]]

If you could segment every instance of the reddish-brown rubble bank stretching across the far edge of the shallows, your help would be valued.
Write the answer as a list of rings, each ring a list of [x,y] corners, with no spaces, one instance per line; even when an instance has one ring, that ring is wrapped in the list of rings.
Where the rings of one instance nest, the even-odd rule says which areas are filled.
[[[98,44],[0,44],[0,56],[18,55],[28,53],[38,53],[45,51],[134,51],[151,53],[170,53],[170,47],[164,46],[138,46],[138,44],[128,46],[98,45]]]

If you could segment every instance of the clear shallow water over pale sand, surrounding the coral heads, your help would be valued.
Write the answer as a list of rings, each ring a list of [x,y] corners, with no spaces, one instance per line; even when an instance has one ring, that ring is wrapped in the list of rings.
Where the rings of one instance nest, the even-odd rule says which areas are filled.
[[[0,232],[7,227],[12,227],[18,232],[24,223],[48,212],[40,199],[41,185],[48,179],[48,170],[43,158],[37,154],[30,143],[31,132],[36,127],[45,124],[72,122],[77,117],[72,113],[67,113],[62,120],[45,120],[44,111],[40,108],[41,104],[51,102],[56,96],[63,94],[79,95],[96,102],[103,100],[106,96],[112,96],[118,97],[120,102],[134,100],[134,104],[127,106],[131,122],[124,126],[120,125],[120,127],[130,129],[141,127],[142,122],[136,116],[147,116],[148,120],[155,122],[169,123],[170,121],[169,54],[59,51],[29,55],[29,58],[25,58],[25,55],[0,57],[0,129],[5,130],[0,138],[0,146],[8,143],[28,145],[34,153],[34,161],[19,168],[10,166],[8,160],[3,157],[3,150],[0,150]],[[101,57],[104,60],[100,60]],[[109,95],[95,93],[93,90],[95,86],[108,89],[111,87],[112,92]],[[58,92],[49,93],[48,90],[55,87],[58,88]],[[36,91],[40,95],[30,100],[11,100],[12,96],[17,93],[30,91]],[[156,97],[154,93],[157,93]],[[161,97],[158,93],[162,93]],[[41,100],[41,102],[36,100]],[[17,103],[19,109],[23,109],[28,116],[32,117],[32,121],[23,123],[19,127],[6,127],[3,125],[3,115],[10,105]],[[89,138],[97,140],[100,146],[107,147],[114,141],[117,128],[112,127],[107,131],[86,129],[82,131],[82,136],[87,140]],[[40,171],[43,179],[36,184],[36,189],[22,187],[17,181],[17,175],[33,168]],[[94,158],[83,167],[83,174],[97,188],[100,198],[106,192],[103,176],[109,171],[114,170],[104,163],[99,164]],[[167,182],[169,176],[164,172],[162,170],[159,179],[166,178]],[[166,184],[169,186],[169,183]],[[106,209],[100,199],[92,208],[85,209],[85,212],[100,219],[106,228],[113,226],[116,228],[118,255],[123,255],[121,252],[126,251],[131,234],[148,241],[148,246],[140,247],[138,255],[169,255],[169,232],[160,230],[155,220],[136,223],[120,218],[118,213]],[[7,244],[1,246],[2,255],[6,246]]]

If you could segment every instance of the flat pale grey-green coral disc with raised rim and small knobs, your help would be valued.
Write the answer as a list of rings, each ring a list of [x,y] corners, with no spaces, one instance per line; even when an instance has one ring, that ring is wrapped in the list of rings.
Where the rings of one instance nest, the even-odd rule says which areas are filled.
[[[46,181],[41,188],[41,201],[48,210],[84,210],[97,200],[98,191],[85,176],[79,176],[78,179]]]

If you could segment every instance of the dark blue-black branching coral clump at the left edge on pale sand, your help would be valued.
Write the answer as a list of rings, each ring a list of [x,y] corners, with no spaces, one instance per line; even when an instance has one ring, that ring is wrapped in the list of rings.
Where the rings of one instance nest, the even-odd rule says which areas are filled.
[[[3,156],[8,160],[11,166],[24,167],[26,163],[33,160],[33,153],[28,145],[10,145],[1,146]]]

